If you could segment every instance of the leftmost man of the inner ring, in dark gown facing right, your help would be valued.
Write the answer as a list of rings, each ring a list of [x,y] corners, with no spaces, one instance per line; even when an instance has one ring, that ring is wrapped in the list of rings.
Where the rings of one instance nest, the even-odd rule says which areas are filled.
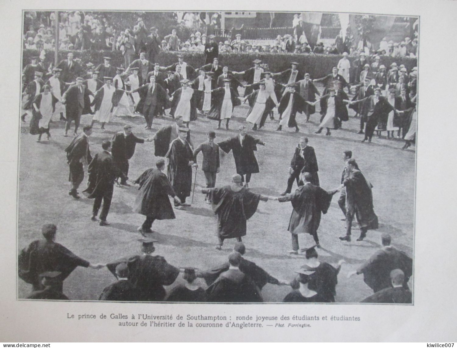
[[[65,149],[65,152],[67,153],[67,163],[70,167],[68,181],[71,182],[72,185],[68,194],[76,199],[80,198],[78,195],[78,187],[80,187],[80,184],[84,179],[83,163],[86,161],[87,163],[90,163],[92,160],[89,150],[89,141],[87,139],[90,134],[92,134],[92,127],[85,126],[83,132],[74,137],[70,145]]]

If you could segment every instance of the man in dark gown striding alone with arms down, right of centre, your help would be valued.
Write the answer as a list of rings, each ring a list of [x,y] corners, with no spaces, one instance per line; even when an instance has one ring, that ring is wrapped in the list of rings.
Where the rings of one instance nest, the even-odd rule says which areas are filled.
[[[282,192],[282,196],[292,192],[293,181],[297,181],[297,185],[303,185],[300,183],[300,173],[308,172],[312,175],[311,184],[319,186],[319,171],[316,153],[314,148],[308,146],[308,138],[301,137],[295,153],[293,154],[292,160],[290,161],[289,167],[289,179],[287,179],[287,189]]]

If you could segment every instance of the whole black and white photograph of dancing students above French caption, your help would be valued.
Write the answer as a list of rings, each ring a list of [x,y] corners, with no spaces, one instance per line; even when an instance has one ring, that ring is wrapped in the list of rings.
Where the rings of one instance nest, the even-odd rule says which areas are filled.
[[[18,300],[414,304],[419,16],[22,20]]]

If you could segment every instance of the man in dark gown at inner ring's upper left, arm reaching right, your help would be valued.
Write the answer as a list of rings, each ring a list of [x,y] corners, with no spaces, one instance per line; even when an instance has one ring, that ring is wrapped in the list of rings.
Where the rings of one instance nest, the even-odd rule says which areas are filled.
[[[150,139],[150,140],[149,140]],[[121,185],[127,184],[128,177],[128,160],[135,153],[135,145],[143,144],[144,141],[152,141],[152,138],[140,139],[132,133],[132,126],[125,125],[123,132],[117,132],[112,138],[111,153],[117,168],[124,174],[121,179]]]

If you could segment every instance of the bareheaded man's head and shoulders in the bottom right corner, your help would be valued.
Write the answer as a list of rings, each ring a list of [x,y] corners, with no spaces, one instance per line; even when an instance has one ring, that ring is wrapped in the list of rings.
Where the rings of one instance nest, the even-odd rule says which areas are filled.
[[[401,269],[393,269],[390,272],[390,280],[391,288],[379,290],[360,303],[412,303],[411,291],[403,287],[404,272]]]

